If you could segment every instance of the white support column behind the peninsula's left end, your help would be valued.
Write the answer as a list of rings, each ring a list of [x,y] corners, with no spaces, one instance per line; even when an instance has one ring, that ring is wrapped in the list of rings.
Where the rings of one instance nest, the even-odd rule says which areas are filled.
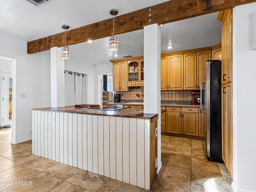
[[[64,59],[60,49],[51,48],[51,107],[65,106]]]

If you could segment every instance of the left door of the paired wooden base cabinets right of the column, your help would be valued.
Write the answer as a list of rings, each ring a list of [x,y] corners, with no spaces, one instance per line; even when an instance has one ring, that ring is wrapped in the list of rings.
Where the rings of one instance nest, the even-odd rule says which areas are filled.
[[[166,112],[166,132],[181,134],[180,112]]]

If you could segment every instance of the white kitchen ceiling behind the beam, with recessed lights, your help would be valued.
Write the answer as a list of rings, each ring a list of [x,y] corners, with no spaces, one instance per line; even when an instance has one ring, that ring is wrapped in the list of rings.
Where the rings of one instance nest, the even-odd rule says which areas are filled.
[[[218,13],[207,14],[187,20],[165,24],[161,28],[161,52],[179,51],[208,47],[221,42],[221,22],[217,21]],[[95,65],[110,63],[109,60],[120,59],[123,55],[133,57],[144,55],[143,29],[118,35],[118,57],[108,51],[108,37],[97,39],[92,43],[71,45],[70,57]],[[174,48],[167,49],[167,45]]]

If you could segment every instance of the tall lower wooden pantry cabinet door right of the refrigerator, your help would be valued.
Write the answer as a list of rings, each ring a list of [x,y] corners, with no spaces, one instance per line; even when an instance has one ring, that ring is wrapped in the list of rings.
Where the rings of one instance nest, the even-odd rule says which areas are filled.
[[[222,85],[222,159],[233,176],[232,82]]]

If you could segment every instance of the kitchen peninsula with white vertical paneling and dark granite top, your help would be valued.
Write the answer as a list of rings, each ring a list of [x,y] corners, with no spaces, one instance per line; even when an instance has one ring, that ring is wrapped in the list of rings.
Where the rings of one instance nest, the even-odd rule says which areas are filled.
[[[32,110],[32,153],[150,189],[158,114],[68,106]]]

